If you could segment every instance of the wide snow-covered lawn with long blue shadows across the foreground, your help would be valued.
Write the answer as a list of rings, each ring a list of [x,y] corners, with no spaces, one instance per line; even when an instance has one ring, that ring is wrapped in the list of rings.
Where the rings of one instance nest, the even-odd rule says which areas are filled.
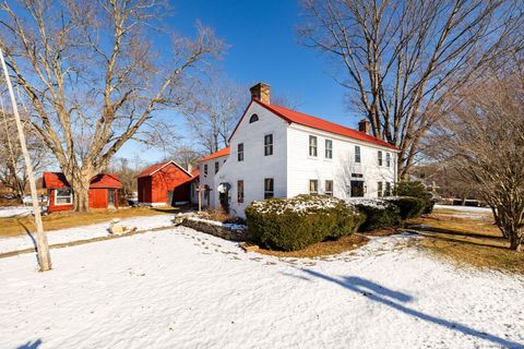
[[[323,260],[178,227],[0,258],[0,348],[522,348],[524,279],[405,236]]]

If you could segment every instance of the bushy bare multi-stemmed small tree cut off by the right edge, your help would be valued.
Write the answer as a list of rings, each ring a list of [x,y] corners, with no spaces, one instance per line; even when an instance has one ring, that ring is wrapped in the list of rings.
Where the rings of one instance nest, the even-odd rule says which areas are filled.
[[[433,144],[464,182],[492,209],[520,250],[524,240],[524,79],[514,74],[455,96]]]

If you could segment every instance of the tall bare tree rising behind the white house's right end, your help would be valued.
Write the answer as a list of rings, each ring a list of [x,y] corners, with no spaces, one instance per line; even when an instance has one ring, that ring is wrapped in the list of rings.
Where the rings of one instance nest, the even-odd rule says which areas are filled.
[[[334,60],[336,81],[401,148],[406,179],[445,95],[522,48],[522,1],[305,0],[303,44]]]

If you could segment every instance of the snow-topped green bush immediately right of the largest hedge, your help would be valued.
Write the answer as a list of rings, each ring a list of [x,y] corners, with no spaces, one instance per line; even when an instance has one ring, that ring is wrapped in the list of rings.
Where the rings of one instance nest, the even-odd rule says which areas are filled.
[[[360,198],[353,204],[366,215],[366,221],[360,226],[360,231],[397,227],[402,221],[401,209],[384,200]]]

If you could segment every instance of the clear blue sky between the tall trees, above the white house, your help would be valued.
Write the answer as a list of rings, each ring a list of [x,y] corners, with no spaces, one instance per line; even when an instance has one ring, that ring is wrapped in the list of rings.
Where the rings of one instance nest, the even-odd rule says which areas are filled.
[[[227,43],[219,64],[238,84],[265,82],[273,95],[298,103],[297,109],[302,112],[349,127],[358,121],[347,111],[345,91],[330,76],[325,59],[298,44],[298,1],[183,0],[174,2],[171,11],[166,20],[177,32],[193,35],[194,23],[200,20]],[[127,144],[117,156],[133,158],[134,154],[146,163],[164,156],[158,149],[145,151],[135,143]]]

